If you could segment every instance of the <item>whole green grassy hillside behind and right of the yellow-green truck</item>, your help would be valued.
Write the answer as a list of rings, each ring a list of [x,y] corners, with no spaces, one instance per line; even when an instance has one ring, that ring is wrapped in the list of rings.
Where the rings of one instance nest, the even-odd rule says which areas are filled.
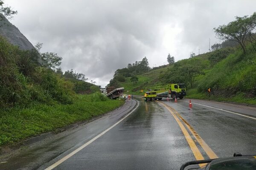
[[[137,77],[135,85],[130,77],[119,83],[129,94],[143,95],[140,90],[152,85],[185,82],[190,98],[256,104],[256,52],[250,45],[246,54],[239,47],[223,48]],[[211,96],[208,88],[212,89]]]

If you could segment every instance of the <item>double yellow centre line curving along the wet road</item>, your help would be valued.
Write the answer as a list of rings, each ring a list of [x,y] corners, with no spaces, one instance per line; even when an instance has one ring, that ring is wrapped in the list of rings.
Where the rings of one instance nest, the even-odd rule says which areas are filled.
[[[196,160],[204,160],[204,156],[199,151],[199,149],[196,146],[195,142],[193,141],[192,137],[189,135],[189,132],[186,130],[186,127],[189,129],[189,131],[192,133],[192,135],[195,137],[197,142],[201,145],[201,147],[204,149],[204,151],[207,153],[207,155],[209,156],[210,159],[218,158],[218,156],[212,151],[212,149],[207,145],[207,143],[204,142],[204,140],[198,135],[198,133],[196,133],[196,131],[189,125],[189,123],[186,122],[186,120],[183,119],[183,117],[180,116],[179,113],[177,113],[177,111],[175,111],[172,107],[170,107],[169,105],[166,105],[163,102],[159,102],[159,103],[161,105],[163,105],[172,114],[172,116],[176,120],[177,124],[180,126],[180,129],[182,130]],[[180,119],[178,117],[180,117]],[[182,122],[184,122],[186,127],[183,125],[183,123],[180,120]],[[200,167],[202,167],[204,165],[205,164],[200,164]]]

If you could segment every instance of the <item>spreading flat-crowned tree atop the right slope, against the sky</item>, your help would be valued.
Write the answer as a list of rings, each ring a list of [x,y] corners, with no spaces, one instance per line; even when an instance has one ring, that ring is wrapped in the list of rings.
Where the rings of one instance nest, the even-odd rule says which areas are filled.
[[[221,40],[231,40],[239,43],[243,49],[244,54],[246,53],[246,40],[250,37],[256,26],[256,13],[251,17],[237,17],[236,20],[228,23],[227,25],[213,28],[215,34]]]

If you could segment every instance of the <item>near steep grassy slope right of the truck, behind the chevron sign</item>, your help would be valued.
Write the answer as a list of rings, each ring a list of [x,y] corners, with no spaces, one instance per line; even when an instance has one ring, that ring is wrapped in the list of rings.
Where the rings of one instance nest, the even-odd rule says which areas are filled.
[[[211,96],[207,88],[212,88]],[[189,97],[256,104],[256,55],[251,46],[247,54],[236,50],[197,77]]]

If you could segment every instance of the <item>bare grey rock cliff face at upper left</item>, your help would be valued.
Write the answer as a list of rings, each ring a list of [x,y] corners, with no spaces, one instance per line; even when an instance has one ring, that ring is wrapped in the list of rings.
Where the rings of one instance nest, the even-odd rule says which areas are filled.
[[[34,48],[31,42],[3,14],[0,14],[0,35],[6,37],[11,44],[17,45],[23,50]]]

